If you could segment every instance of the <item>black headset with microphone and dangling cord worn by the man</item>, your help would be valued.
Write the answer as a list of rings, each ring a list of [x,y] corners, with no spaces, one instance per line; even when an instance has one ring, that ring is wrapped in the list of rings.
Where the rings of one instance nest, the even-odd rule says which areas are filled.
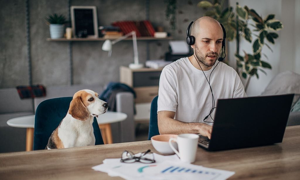
[[[193,21],[190,22],[190,24],[189,24],[188,27],[187,27],[187,44],[190,45],[190,48],[191,48],[191,45],[195,44],[195,40],[196,40],[194,36],[191,36],[191,35],[190,35],[190,26],[192,26],[192,24],[193,24]],[[225,30],[224,26],[223,26],[221,23],[220,23],[220,25],[221,25],[222,30],[223,30],[223,41],[222,41],[222,54],[221,54],[221,56],[223,55],[223,49],[224,49],[224,54],[225,54],[225,56],[224,56],[224,57],[219,57],[219,58],[218,58],[218,61],[219,61],[219,62],[220,62],[220,61],[223,61],[224,58],[226,57],[226,53],[225,53],[225,50],[226,50],[226,46],[225,46],[226,30]],[[194,54],[193,54],[193,55],[194,55]],[[194,57],[196,58],[195,55],[194,55]],[[199,64],[197,58],[196,58],[196,61],[197,61],[197,63]],[[219,62],[218,62],[218,64],[219,64]],[[218,64],[217,64],[217,65],[218,65]],[[217,65],[216,65],[214,68],[216,68]],[[202,67],[200,66],[200,64],[199,64],[199,67],[200,67],[201,70],[202,70]],[[212,71],[214,71],[214,69],[213,69]],[[212,71],[211,71],[211,73],[212,73]],[[202,72],[203,72],[203,70],[202,70]],[[208,116],[211,117],[211,113],[212,113],[212,112],[214,111],[214,109],[216,108],[216,107],[214,107],[214,105],[215,105],[215,103],[214,103],[214,94],[212,93],[212,88],[211,88],[211,85],[210,85],[210,76],[211,76],[211,73],[210,73],[210,75],[209,75],[209,80],[208,80],[207,77],[205,76],[205,73],[203,72],[203,74],[204,74],[204,76],[205,76],[205,78],[206,78],[206,80],[207,80],[207,82],[208,82],[208,85],[209,85],[209,87],[210,87],[211,98],[212,98],[212,108],[211,108],[209,114],[208,114],[207,116],[205,116],[205,118],[203,119],[204,122],[208,122],[208,121],[205,121],[205,119],[207,119]],[[213,119],[212,117],[211,117],[211,119],[214,121],[214,119]]]

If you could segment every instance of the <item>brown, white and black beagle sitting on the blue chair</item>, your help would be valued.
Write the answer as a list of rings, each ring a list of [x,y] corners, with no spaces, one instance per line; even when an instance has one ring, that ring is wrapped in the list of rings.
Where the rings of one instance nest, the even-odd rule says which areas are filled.
[[[52,132],[45,149],[95,145],[94,117],[105,113],[107,108],[96,92],[88,89],[76,92],[66,117]]]

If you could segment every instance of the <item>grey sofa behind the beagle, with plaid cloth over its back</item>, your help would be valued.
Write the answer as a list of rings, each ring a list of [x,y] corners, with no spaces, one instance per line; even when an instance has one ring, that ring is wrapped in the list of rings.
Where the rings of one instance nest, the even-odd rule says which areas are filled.
[[[26,128],[9,127],[8,119],[35,114],[35,110],[42,101],[51,98],[73,96],[82,89],[91,89],[101,94],[101,85],[72,85],[72,86],[48,86],[46,96],[34,99],[19,98],[16,88],[0,89],[0,153],[25,151]],[[127,119],[119,123],[111,124],[113,142],[134,141],[134,97],[130,92],[119,92],[116,95],[116,111],[126,113]]]

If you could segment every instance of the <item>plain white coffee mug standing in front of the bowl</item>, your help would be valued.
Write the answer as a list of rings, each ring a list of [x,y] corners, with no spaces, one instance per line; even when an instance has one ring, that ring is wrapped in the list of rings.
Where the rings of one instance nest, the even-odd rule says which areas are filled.
[[[198,140],[199,135],[197,134],[179,134],[177,138],[170,138],[169,145],[181,161],[192,163],[196,159]],[[173,147],[172,141],[178,144],[179,152]]]

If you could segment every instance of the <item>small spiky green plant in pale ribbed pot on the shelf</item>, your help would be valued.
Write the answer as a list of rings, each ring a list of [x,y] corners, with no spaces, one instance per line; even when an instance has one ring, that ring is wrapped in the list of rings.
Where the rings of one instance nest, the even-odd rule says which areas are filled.
[[[46,17],[47,24],[50,27],[50,37],[52,39],[62,38],[64,36],[64,24],[67,22],[66,17],[62,14],[50,14]]]

